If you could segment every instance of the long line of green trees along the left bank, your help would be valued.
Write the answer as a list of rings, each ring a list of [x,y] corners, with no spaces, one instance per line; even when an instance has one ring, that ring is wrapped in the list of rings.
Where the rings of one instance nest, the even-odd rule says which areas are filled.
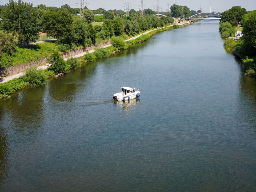
[[[115,13],[123,14],[117,10],[105,11],[99,8],[98,13],[103,13],[100,25],[93,26],[91,23],[96,20],[94,12],[85,7],[83,18],[75,16],[80,9],[71,8],[68,5],[62,5],[60,8],[38,5],[33,7],[32,3],[21,0],[17,2],[10,0],[1,10],[0,28],[0,67],[12,65],[11,61],[16,55],[23,54],[17,52],[14,39],[18,41],[20,47],[25,47],[30,42],[36,42],[39,39],[39,31],[46,33],[47,36],[56,38],[60,52],[66,52],[77,47],[87,47],[97,42],[105,41],[114,36],[135,35],[142,31],[169,25],[174,22],[170,17],[158,18],[154,15],[140,14],[135,10],[130,10],[131,15],[119,15],[114,17]],[[135,11],[135,12],[134,12]],[[4,64],[3,64],[4,62]]]

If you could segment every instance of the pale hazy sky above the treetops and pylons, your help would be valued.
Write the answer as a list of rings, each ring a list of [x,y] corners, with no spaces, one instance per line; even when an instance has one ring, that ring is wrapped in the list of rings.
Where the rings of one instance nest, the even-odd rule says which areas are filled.
[[[25,0],[26,2],[33,3],[34,6],[38,4],[45,4],[46,6],[55,6],[60,7],[61,5],[68,4],[71,7],[80,7],[79,3],[80,0]],[[150,8],[154,10],[154,3],[156,3],[157,0],[144,0],[144,8]],[[5,3],[8,3],[9,0],[0,0],[0,5],[4,5]],[[190,8],[190,10],[199,10],[200,5],[202,6],[202,11],[210,11],[210,3],[211,3],[211,11],[214,12],[223,12],[227,9],[230,9],[232,6],[241,6],[246,8],[247,11],[256,9],[256,1],[255,0],[159,0],[160,6],[162,7],[162,11],[165,11],[167,9],[167,4],[170,3],[170,5],[175,4],[177,2],[177,5],[185,5]],[[98,9],[99,7],[102,7],[106,10],[109,9],[117,9],[117,10],[125,10],[126,7],[124,3],[126,3],[126,0],[85,0],[86,6],[89,9]],[[139,10],[139,7],[141,6],[140,0],[129,0],[130,3],[130,9]],[[160,9],[161,10],[161,9]]]

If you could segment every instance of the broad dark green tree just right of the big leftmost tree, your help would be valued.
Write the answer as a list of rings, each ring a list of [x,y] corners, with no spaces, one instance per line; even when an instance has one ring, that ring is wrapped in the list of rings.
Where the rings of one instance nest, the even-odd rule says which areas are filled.
[[[48,36],[55,37],[57,43],[71,44],[72,17],[66,11],[49,11],[42,16],[43,27]]]

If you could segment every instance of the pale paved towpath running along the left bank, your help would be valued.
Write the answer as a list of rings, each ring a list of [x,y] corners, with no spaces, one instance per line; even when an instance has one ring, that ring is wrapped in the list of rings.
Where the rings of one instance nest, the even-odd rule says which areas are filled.
[[[190,23],[190,22],[186,22],[186,23]],[[184,25],[186,23],[182,23],[182,25]],[[167,27],[170,27],[170,26],[172,26],[172,25],[169,25]],[[158,28],[158,29],[162,29],[162,28],[164,28],[164,27],[161,27],[161,28]],[[144,32],[142,34],[139,34],[139,35],[134,36],[132,38],[126,39],[125,41],[130,41],[130,40],[136,39],[136,38],[140,37],[141,35],[147,34],[147,33],[151,32],[151,31],[158,30],[158,29],[153,29],[153,30],[150,30],[150,31],[146,31],[146,32]],[[51,41],[51,40],[46,40],[46,41]],[[43,41],[43,42],[46,42],[46,41]],[[39,43],[39,42],[36,42],[36,43]],[[36,44],[36,43],[34,43],[34,44]],[[110,45],[111,44],[102,46],[102,48],[109,47]],[[93,53],[94,51],[95,51],[95,49],[90,50],[88,52],[82,52],[82,53],[79,53],[77,55],[73,55],[73,56],[70,56],[70,57],[75,57],[75,58],[82,57],[83,55],[85,55],[87,53]],[[70,57],[64,58],[64,60],[66,61]],[[37,67],[37,69],[47,69],[48,66],[49,66],[49,64],[42,65],[42,66]],[[25,72],[21,72],[21,73],[15,74],[15,75],[10,75],[10,76],[4,77],[3,79],[0,78],[0,83],[4,83],[4,82],[7,82],[7,81],[10,81],[10,80],[12,80],[14,78],[17,78],[17,77],[20,77],[20,76],[22,76],[24,74],[25,74]]]

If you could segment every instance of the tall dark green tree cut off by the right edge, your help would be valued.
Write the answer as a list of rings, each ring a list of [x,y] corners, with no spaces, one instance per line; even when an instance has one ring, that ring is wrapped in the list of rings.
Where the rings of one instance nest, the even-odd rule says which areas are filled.
[[[250,56],[256,55],[256,10],[243,15],[241,24],[243,26],[242,43],[243,49]]]

